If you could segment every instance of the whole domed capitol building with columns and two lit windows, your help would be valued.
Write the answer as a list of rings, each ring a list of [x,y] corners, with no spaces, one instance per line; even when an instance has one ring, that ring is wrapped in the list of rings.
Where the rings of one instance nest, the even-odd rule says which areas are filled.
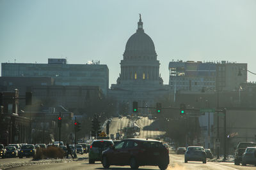
[[[133,101],[137,101],[139,107],[156,107],[157,97],[168,94],[168,85],[163,85],[155,45],[144,32],[141,15],[138,29],[128,39],[123,56],[121,73],[108,95],[118,104],[125,104],[129,113],[132,113]],[[139,108],[139,113],[150,113],[150,110]]]

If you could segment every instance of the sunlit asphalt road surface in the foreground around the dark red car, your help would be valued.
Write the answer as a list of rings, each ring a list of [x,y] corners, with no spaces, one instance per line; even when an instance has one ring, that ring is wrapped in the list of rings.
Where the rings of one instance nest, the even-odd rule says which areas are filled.
[[[81,155],[82,156],[82,155]],[[10,168],[11,170],[16,169],[47,169],[47,170],[56,170],[56,169],[88,169],[88,170],[95,170],[95,169],[104,169],[100,162],[95,162],[95,164],[88,164],[88,154],[83,155],[84,159],[77,160],[74,162],[64,162],[58,164],[39,164],[39,165],[32,165],[32,166],[24,166],[24,167],[13,167]],[[131,169],[129,166],[110,166],[109,169],[113,170],[127,170]],[[142,166],[139,169],[156,169],[159,168],[156,166]],[[236,170],[236,169],[256,169],[255,166],[235,166],[234,162],[209,162],[207,164],[202,164],[202,162],[188,162],[184,163],[184,155],[176,155],[170,154],[170,164],[167,170],[199,170],[199,169],[210,169],[210,170]]]

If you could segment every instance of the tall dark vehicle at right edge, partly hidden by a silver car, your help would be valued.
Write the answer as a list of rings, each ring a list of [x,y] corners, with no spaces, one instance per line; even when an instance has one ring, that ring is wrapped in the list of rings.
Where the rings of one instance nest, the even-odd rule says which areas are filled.
[[[242,162],[242,156],[244,151],[246,150],[247,147],[255,147],[256,143],[253,142],[240,142],[235,150],[235,160],[234,160],[234,164],[235,165],[240,165],[240,163]]]

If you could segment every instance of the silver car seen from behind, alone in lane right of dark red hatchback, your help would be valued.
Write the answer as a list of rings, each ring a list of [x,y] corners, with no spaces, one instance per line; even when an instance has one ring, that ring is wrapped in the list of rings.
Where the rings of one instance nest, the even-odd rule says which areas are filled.
[[[185,152],[185,163],[188,161],[202,161],[206,164],[206,153],[204,151],[204,147],[202,146],[188,146]]]

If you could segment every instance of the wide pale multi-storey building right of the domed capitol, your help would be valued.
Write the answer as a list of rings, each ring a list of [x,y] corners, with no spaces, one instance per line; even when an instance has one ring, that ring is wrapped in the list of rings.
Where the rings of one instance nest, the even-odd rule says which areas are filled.
[[[247,73],[237,76],[239,69],[247,69],[247,64],[234,62],[183,62],[169,63],[169,85],[173,91],[183,90],[192,92],[204,91],[234,91],[241,83],[246,82]]]

